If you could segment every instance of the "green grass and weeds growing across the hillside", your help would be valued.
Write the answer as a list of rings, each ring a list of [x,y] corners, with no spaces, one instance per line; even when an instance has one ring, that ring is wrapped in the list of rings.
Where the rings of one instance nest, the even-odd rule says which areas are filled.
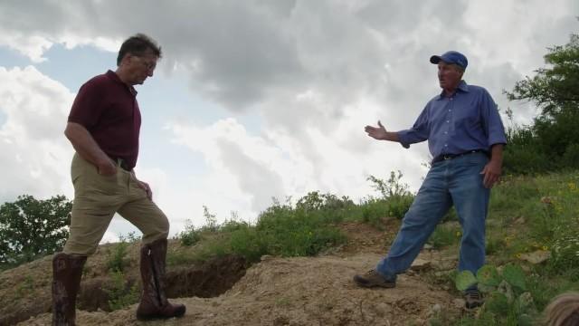
[[[375,179],[377,180],[377,179]],[[383,183],[388,187],[393,184]],[[384,191],[382,191],[384,190]],[[388,188],[381,189],[389,194]],[[543,176],[506,176],[493,188],[487,220],[487,261],[498,269],[506,264],[524,267],[527,294],[534,309],[521,311],[504,298],[489,298],[488,308],[460,317],[435,316],[436,321],[455,325],[517,325],[537,318],[556,294],[579,290],[579,173],[561,172]],[[344,221],[358,221],[384,228],[385,218],[402,218],[413,195],[368,197],[355,204],[347,197],[309,193],[296,204],[274,202],[261,212],[255,223],[232,218],[222,225],[205,209],[210,227],[189,228],[197,240],[189,252],[169,253],[169,264],[198,262],[224,254],[240,254],[250,264],[262,255],[308,256],[346,241],[337,228]],[[438,250],[456,251],[461,230],[452,210],[438,225],[429,243]],[[450,223],[449,223],[450,222]],[[195,245],[195,246],[193,246]],[[186,246],[184,246],[186,247]],[[548,251],[552,258],[532,265],[521,254]],[[448,276],[449,278],[451,276]],[[445,280],[439,280],[446,283]],[[454,293],[458,293],[453,290]],[[495,295],[495,294],[493,294]],[[518,293],[522,295],[522,293]]]

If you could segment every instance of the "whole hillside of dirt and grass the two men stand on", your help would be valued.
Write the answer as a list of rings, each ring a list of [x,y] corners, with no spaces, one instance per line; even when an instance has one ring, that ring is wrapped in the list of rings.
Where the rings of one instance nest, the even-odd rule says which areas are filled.
[[[187,312],[147,324],[530,325],[556,294],[579,290],[578,185],[579,174],[571,171],[506,176],[493,190],[488,267],[505,280],[507,270],[515,273],[510,283],[517,288],[488,288],[485,305],[473,311],[463,309],[454,284],[461,233],[453,213],[396,288],[360,289],[352,276],[375,266],[400,226],[399,218],[380,216],[401,212],[403,201],[354,204],[312,193],[297,206],[272,206],[258,225],[202,229],[195,245],[172,240],[167,293]],[[319,250],[308,254],[312,247]],[[134,316],[138,248],[130,239],[101,245],[90,257],[77,304],[79,325],[143,324]],[[260,255],[263,250],[281,254]],[[0,325],[50,324],[50,265],[44,257],[0,273]],[[111,272],[112,266],[122,273]]]

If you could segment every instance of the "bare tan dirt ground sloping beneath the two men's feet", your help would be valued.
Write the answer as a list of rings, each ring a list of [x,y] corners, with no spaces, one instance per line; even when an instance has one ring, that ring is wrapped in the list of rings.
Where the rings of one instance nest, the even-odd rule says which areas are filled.
[[[181,298],[185,316],[138,322],[133,305],[117,312],[77,313],[79,325],[425,325],[442,313],[458,315],[457,298],[419,273],[400,275],[394,289],[361,289],[355,273],[375,266],[396,225],[381,232],[345,224],[347,245],[318,257],[264,257],[231,290],[214,298]],[[388,241],[389,243],[389,241]],[[422,258],[441,261],[440,254]],[[460,303],[460,302],[459,302]],[[44,313],[19,325],[48,325]]]

